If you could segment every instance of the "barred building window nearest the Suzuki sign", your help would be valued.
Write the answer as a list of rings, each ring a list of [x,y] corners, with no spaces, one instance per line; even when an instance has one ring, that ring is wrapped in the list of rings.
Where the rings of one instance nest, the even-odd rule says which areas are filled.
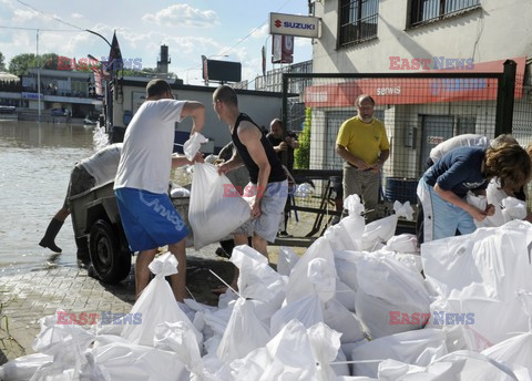
[[[340,0],[339,45],[377,37],[379,0]]]

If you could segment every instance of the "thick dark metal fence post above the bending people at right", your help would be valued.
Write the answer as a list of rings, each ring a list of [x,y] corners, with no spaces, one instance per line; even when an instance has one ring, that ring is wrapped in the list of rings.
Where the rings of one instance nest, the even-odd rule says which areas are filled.
[[[504,61],[504,72],[502,78],[499,79],[497,93],[495,136],[512,133],[515,69],[515,61]]]

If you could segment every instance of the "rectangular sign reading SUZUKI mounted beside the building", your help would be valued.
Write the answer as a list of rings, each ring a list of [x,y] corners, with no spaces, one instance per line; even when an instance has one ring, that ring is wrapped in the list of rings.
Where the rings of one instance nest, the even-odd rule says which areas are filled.
[[[269,13],[269,34],[319,38],[319,19],[308,16]]]

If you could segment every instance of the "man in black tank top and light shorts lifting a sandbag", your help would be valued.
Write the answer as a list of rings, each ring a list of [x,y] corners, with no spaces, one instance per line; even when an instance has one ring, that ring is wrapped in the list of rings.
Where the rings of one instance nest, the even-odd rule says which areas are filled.
[[[247,237],[253,236],[253,247],[267,258],[268,241],[275,241],[286,203],[288,184],[285,171],[258,125],[238,110],[238,100],[232,87],[222,85],[216,89],[213,106],[219,120],[228,124],[237,151],[237,155],[218,166],[218,172],[225,174],[245,165],[250,178],[245,196],[255,195],[252,219],[235,231],[235,244],[245,245]]]

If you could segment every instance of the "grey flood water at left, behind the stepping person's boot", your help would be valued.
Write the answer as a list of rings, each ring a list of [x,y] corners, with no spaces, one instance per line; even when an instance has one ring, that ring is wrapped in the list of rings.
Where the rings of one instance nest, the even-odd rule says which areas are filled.
[[[101,143],[92,127],[0,121],[0,274],[76,265],[70,217],[55,239],[61,255],[38,244],[62,206],[75,162]]]

